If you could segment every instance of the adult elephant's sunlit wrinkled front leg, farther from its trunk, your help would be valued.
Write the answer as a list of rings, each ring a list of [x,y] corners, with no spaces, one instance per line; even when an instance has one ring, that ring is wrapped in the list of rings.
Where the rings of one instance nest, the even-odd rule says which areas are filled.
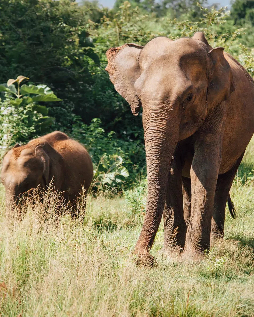
[[[199,256],[210,248],[211,219],[218,171],[221,163],[221,141],[209,136],[195,145],[191,165],[191,212],[184,253]]]

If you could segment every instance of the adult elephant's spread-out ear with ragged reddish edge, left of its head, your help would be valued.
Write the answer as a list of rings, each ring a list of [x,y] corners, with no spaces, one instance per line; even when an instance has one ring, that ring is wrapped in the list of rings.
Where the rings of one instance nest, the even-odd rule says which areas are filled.
[[[137,116],[141,102],[134,90],[134,83],[140,76],[138,58],[143,46],[133,43],[112,47],[106,52],[110,81],[116,91],[129,103],[132,113]]]

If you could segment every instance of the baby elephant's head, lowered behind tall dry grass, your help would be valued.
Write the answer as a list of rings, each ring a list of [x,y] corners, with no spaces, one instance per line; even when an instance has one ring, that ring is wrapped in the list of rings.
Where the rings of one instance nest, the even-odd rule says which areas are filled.
[[[49,156],[43,145],[14,146],[3,159],[1,181],[5,187],[7,207],[17,204],[22,194],[49,184]]]

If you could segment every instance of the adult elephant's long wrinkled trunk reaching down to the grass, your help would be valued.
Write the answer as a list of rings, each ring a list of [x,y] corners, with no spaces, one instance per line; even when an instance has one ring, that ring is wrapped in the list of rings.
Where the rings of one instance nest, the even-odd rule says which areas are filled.
[[[170,162],[179,136],[180,117],[177,108],[153,109],[149,113],[146,113],[146,109],[143,110],[148,195],[136,253],[149,252],[154,242],[164,210]]]

